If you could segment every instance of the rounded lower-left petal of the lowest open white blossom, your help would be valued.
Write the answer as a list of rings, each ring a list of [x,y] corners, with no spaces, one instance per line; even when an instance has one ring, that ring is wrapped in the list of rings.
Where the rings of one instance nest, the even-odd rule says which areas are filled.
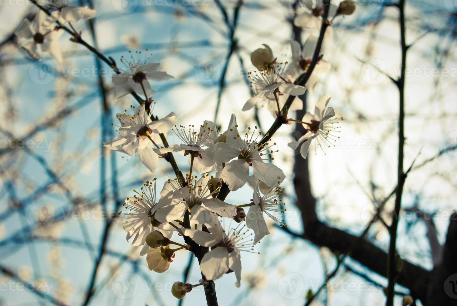
[[[225,247],[216,247],[202,258],[200,268],[206,279],[218,279],[228,271],[228,252]]]

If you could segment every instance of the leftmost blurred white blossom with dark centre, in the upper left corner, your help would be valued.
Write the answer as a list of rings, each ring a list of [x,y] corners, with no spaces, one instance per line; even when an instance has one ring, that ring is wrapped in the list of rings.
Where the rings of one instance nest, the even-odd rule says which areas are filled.
[[[24,48],[34,59],[41,60],[43,53],[48,53],[61,63],[62,48],[58,38],[63,34],[63,30],[55,31],[55,27],[45,27],[47,19],[46,13],[41,10],[37,12],[33,25],[24,19],[15,32],[19,37],[19,47]]]

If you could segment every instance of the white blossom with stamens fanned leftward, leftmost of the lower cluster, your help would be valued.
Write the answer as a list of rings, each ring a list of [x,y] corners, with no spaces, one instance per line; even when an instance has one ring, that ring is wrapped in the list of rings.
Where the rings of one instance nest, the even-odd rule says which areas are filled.
[[[127,198],[123,204],[128,213],[119,212],[119,215],[127,215],[122,222],[124,231],[127,232],[127,241],[133,237],[133,246],[143,246],[140,252],[140,255],[143,256],[149,250],[146,244],[146,236],[150,232],[160,231],[166,238],[170,239],[175,228],[167,223],[160,224],[151,214],[151,209],[156,206],[156,178],[152,182],[146,182],[141,188],[141,193],[136,190],[133,191],[137,194]]]

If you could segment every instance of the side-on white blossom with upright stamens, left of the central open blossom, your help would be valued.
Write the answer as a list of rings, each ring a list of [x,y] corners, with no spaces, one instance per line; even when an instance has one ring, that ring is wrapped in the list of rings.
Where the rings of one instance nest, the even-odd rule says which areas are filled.
[[[187,128],[183,125],[179,127],[175,125],[171,129],[176,136],[181,140],[180,145],[170,145],[168,148],[154,149],[157,154],[165,154],[168,152],[184,152],[184,156],[189,156],[189,164],[191,157],[195,157],[192,169],[198,173],[205,173],[213,170],[216,163],[209,155],[214,151],[214,145],[218,138],[218,129],[212,121],[205,120],[198,132],[193,125]]]

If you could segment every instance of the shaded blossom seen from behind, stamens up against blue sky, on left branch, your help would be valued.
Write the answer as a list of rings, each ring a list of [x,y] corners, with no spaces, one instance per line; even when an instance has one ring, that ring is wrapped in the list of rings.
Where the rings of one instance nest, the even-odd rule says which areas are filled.
[[[149,81],[163,81],[172,78],[171,75],[164,71],[157,71],[160,63],[149,63],[152,53],[142,59],[141,51],[136,51],[135,56],[133,56],[132,51],[128,52],[131,57],[130,60],[125,59],[123,56],[121,57],[121,63],[125,65],[126,69],[122,73],[112,76],[116,100],[132,91],[149,97],[155,92],[151,89]],[[146,52],[148,52],[148,49],[146,49]]]

